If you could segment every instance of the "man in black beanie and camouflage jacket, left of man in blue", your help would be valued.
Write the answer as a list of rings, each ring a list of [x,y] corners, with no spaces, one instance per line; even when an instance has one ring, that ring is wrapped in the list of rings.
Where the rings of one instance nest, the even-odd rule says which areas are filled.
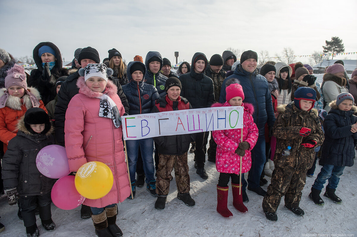
[[[205,70],[205,75],[213,80],[213,86],[215,89],[215,102],[218,102],[221,93],[221,87],[224,79],[226,78],[226,72],[222,69],[223,58],[219,54],[213,54],[208,67]],[[205,140],[203,142],[203,148],[206,148],[208,140],[208,132],[205,133]],[[216,162],[216,149],[217,144],[213,140],[212,132],[210,138],[210,147],[207,149],[207,160],[210,162]]]

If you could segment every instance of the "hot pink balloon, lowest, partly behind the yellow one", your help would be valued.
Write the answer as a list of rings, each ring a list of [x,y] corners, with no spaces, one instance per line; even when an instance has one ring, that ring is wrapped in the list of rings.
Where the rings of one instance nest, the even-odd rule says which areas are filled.
[[[80,195],[74,185],[74,175],[60,178],[52,187],[51,198],[56,207],[63,210],[72,210],[81,205],[86,199]]]

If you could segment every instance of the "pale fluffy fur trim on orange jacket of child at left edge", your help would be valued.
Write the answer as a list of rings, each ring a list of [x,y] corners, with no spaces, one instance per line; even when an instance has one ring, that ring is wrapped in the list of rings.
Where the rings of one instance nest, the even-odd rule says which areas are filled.
[[[22,110],[21,106],[25,105],[26,109],[30,109],[33,107],[32,102],[31,102],[31,97],[32,97],[32,99],[36,99],[38,104],[40,105],[39,101],[41,100],[41,95],[40,95],[39,91],[34,87],[28,87],[27,91],[29,91],[30,95],[25,93],[25,95],[22,96],[22,98],[18,98],[18,97],[12,96],[12,95],[7,95],[5,93],[5,91],[6,91],[6,88],[0,89],[0,108],[7,106],[13,110]],[[22,102],[21,102],[21,99],[22,99]]]

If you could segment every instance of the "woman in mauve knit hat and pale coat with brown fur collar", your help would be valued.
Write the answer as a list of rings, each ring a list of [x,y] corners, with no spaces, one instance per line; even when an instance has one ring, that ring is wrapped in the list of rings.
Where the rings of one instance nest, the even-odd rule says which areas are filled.
[[[337,95],[343,92],[348,92],[346,88],[346,78],[343,77],[345,67],[342,64],[336,63],[326,69],[323,75],[321,90],[326,106],[325,110],[330,111],[330,102],[335,100]]]

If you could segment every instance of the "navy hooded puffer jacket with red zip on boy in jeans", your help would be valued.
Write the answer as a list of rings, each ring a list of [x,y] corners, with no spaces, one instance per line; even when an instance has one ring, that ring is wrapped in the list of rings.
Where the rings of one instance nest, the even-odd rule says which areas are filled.
[[[151,112],[152,108],[155,106],[155,101],[160,98],[159,93],[157,93],[156,88],[153,85],[147,84],[144,80],[136,82],[132,80],[130,74],[130,68],[132,65],[140,63],[145,66],[142,62],[130,62],[127,67],[127,75],[129,83],[123,85],[123,91],[129,102],[129,114],[148,114]],[[145,68],[145,67],[144,67]],[[146,70],[144,70],[144,77]]]

